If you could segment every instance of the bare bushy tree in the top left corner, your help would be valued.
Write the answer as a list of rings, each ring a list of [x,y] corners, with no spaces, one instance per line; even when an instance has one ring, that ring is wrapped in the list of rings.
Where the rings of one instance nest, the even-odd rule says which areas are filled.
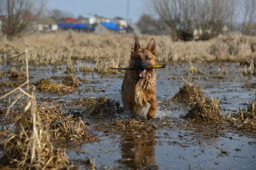
[[[1,15],[6,15],[2,20],[2,32],[8,39],[22,36],[26,31],[29,19],[39,16],[44,10],[47,0],[0,0]]]

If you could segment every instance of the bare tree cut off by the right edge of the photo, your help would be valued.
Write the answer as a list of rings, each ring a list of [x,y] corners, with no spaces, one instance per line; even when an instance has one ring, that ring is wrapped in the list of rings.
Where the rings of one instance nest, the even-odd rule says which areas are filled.
[[[256,0],[240,0],[243,16],[242,31],[248,36],[256,35]]]

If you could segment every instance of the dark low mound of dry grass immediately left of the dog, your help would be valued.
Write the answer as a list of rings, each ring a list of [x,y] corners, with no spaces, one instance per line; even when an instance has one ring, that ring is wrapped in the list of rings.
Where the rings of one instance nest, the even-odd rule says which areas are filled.
[[[84,117],[95,119],[111,119],[120,118],[120,113],[123,112],[120,103],[114,100],[108,99],[108,97],[84,97],[82,99],[76,99],[73,102],[76,106],[84,106]]]

